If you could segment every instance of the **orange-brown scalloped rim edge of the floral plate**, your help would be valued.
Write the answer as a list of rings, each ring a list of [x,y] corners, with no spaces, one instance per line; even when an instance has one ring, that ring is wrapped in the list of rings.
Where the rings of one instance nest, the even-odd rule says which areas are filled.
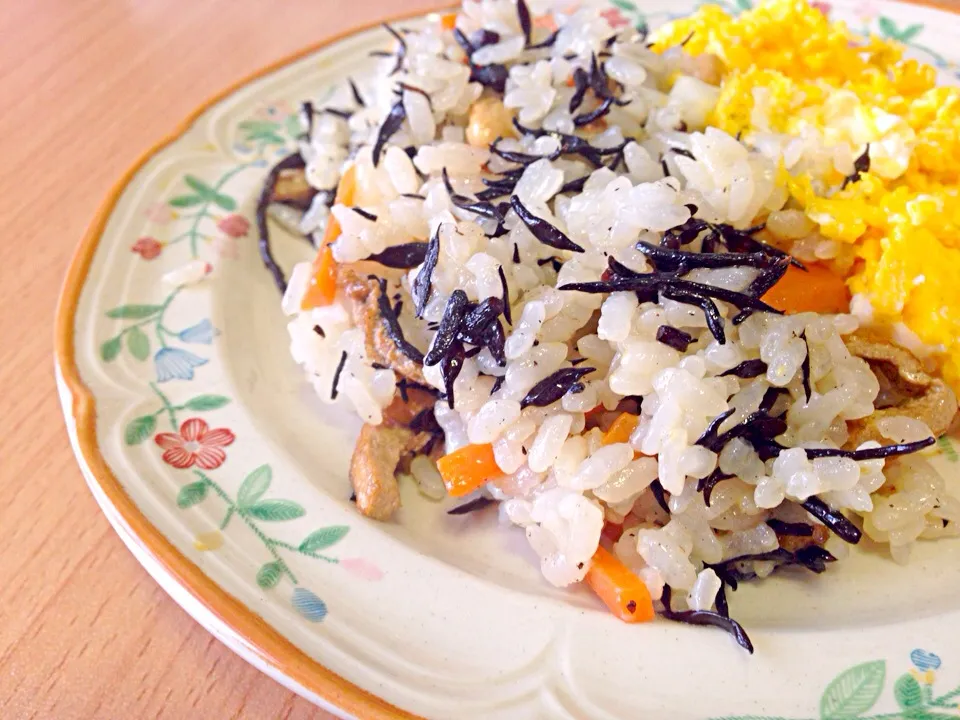
[[[960,3],[957,0],[897,1],[960,16]],[[245,606],[227,590],[217,585],[196,563],[178,550],[163,535],[162,531],[150,522],[144,512],[124,490],[122,484],[110,469],[97,442],[96,400],[90,388],[80,377],[75,353],[74,329],[80,296],[88,279],[94,256],[106,225],[123,192],[150,160],[182,138],[205,113],[244,87],[355,34],[370,30],[383,23],[425,17],[432,13],[456,10],[459,6],[459,3],[444,2],[424,9],[390,13],[384,17],[352,25],[339,33],[325,36],[314,43],[300,47],[256,68],[208,96],[186,117],[176,123],[172,130],[141,152],[111,185],[104,199],[97,206],[93,219],[87,225],[79,245],[71,256],[60,288],[54,317],[55,372],[61,406],[66,416],[65,420],[71,440],[71,449],[77,456],[81,475],[90,485],[94,500],[101,506],[101,511],[104,512],[107,521],[120,536],[123,544],[187,615],[199,622],[204,630],[213,634],[246,662],[250,662],[258,669],[263,670],[272,679],[305,697],[308,701],[313,701],[308,695],[312,694],[340,712],[356,717],[370,718],[370,720],[423,720],[423,718],[402,710],[337,675],[296,647],[279,631],[267,624],[254,610]],[[100,491],[99,493],[94,489],[94,484]],[[117,522],[114,521],[110,512],[103,507],[104,503],[108,504],[110,510],[116,513]],[[128,536],[121,532],[119,527],[121,524],[129,528],[130,534]],[[133,550],[133,544],[136,544],[139,552]],[[166,583],[162,582],[150,568],[146,567],[145,558],[149,558],[150,561],[155,563],[158,573],[163,573],[178,586],[184,592],[185,598],[188,597],[196,603],[197,607],[193,611],[187,608],[185,602],[181,602],[180,599],[174,597]],[[212,617],[213,622],[219,623],[236,635],[237,645],[242,646],[245,652],[240,652],[233,644],[228,643],[224,637],[214,632],[208,626],[208,623],[198,618],[198,614],[206,614]],[[286,682],[281,681],[280,678],[283,678]]]

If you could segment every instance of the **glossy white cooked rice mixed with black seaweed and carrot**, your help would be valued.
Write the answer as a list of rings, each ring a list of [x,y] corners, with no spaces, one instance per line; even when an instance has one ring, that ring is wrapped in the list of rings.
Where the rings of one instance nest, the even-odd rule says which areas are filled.
[[[588,69],[591,54],[602,51],[605,40],[618,33],[596,10],[583,9],[562,27],[552,49],[524,50],[516,8],[505,0],[470,0],[457,23],[467,35],[481,27],[500,33],[500,41],[477,51],[473,61],[514,63],[503,102],[517,112],[519,122],[566,133],[574,130],[568,109],[573,88],[567,77],[574,68]],[[473,302],[499,297],[498,273],[503,272],[514,319],[512,327],[505,326],[506,365],[499,366],[487,349],[466,359],[454,384],[454,407],[438,400],[435,414],[447,452],[470,443],[492,443],[503,476],[489,483],[487,491],[503,500],[506,522],[525,528],[548,581],[562,586],[583,578],[605,519],[623,526],[614,550],[654,597],[666,583],[684,591],[681,596],[686,594],[686,604],[693,609],[712,607],[720,587],[705,563],[776,550],[777,535],[766,521],[817,524],[797,504],[811,496],[861,517],[866,534],[889,543],[900,560],[917,538],[960,526],[960,503],[945,495],[942,480],[920,457],[888,462],[807,458],[804,448],[841,446],[847,439],[845,421],[873,412],[877,379],[843,342],[844,335],[858,328],[854,315],[756,313],[734,325],[736,309],[718,302],[726,334],[720,344],[707,329],[704,313],[689,304],[641,302],[632,292],[604,297],[557,290],[567,283],[598,280],[610,258],[649,272],[649,263],[635,248],[638,239],[657,244],[662,232],[692,216],[739,228],[765,219],[776,235],[809,247],[811,257],[835,254],[835,248],[815,237],[803,213],[785,206],[787,194],[776,181],[776,164],[799,162],[787,142],[772,137],[760,152],[704,127],[718,89],[690,75],[690,59],[682,53],[656,55],[633,30],[620,30],[606,70],[632,102],[614,107],[606,118],[607,129],[590,141],[596,147],[615,147],[630,138],[623,162],[610,170],[596,169],[576,155],[544,157],[526,167],[514,191],[532,213],[585,252],[544,245],[512,210],[506,214],[506,234],[491,238],[496,222],[457,208],[441,180],[445,169],[455,191],[470,195],[484,189],[481,178],[489,177],[488,170],[514,167],[486,146],[465,141],[468,110],[484,90],[469,81],[463,52],[450,32],[430,26],[408,33],[405,41],[404,68],[387,77],[394,60],[384,60],[380,84],[365,89],[366,109],[349,121],[323,115],[313,123],[302,147],[307,177],[317,188],[335,186],[347,147],[354,148],[350,162],[357,168],[356,205],[377,219],[333,206],[332,216],[342,228],[333,245],[338,262],[425,241],[439,228],[440,258],[423,321],[414,320],[410,298],[419,269],[385,273],[403,296],[401,325],[407,338],[421,349],[432,336],[426,323],[440,320],[454,289],[463,290]],[[671,89],[664,92],[667,79],[677,72]],[[423,88],[431,101],[419,93],[402,93],[407,119],[374,167],[371,145],[396,102],[392,90],[398,82]],[[416,148],[412,159],[403,150],[411,145]],[[549,136],[507,137],[500,147],[546,156],[556,152],[559,143]],[[670,148],[689,151],[693,159]],[[883,165],[879,157],[873,160]],[[587,174],[582,192],[557,195],[565,182]],[[303,227],[319,229],[325,214],[323,207],[311,208]],[[809,244],[802,245],[808,239]],[[699,242],[686,249],[697,250]],[[520,263],[512,260],[515,252]],[[552,257],[563,263],[559,272],[551,266]],[[755,275],[750,268],[730,268],[696,271],[688,279],[742,290]],[[363,337],[342,304],[299,311],[308,278],[309,266],[298,266],[283,302],[291,316],[293,356],[324,402],[379,423],[394,397],[396,376],[374,369]],[[587,326],[595,314],[598,322],[591,330]],[[686,351],[657,340],[661,325],[692,337]],[[323,337],[315,326],[322,327]],[[331,400],[333,374],[344,352],[339,395]],[[805,400],[802,368],[808,354],[811,395]],[[569,367],[574,358],[584,358],[584,366],[597,369],[584,379],[582,392],[546,408],[521,408],[534,385]],[[744,360],[758,358],[767,365],[764,375],[721,377]],[[425,376],[444,389],[438,366],[425,368]],[[503,382],[491,392],[495,378]],[[733,410],[719,432],[745,420],[770,388],[786,391],[775,412],[786,412],[786,430],[777,439],[789,449],[763,460],[742,439],[727,443],[719,453],[696,444],[721,413]],[[615,411],[626,397],[641,399],[639,423],[628,443],[603,445],[600,430],[585,431],[588,412]],[[906,418],[889,418],[882,428],[891,442],[930,434],[922,423]],[[697,485],[716,468],[736,477],[719,483],[707,506]],[[411,473],[425,495],[442,497],[431,460],[416,458]],[[653,499],[650,486],[655,479],[670,494],[669,516]],[[881,487],[882,496],[876,494]],[[836,541],[829,547],[837,547]],[[757,574],[771,569],[769,563],[754,567]],[[680,596],[676,600],[683,602]]]

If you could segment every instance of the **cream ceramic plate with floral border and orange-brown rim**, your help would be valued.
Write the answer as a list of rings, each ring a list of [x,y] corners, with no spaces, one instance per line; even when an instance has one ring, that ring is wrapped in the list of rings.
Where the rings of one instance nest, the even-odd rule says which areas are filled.
[[[957,16],[819,5],[960,75]],[[656,25],[693,6],[605,12]],[[749,656],[723,633],[624,626],[588,593],[546,586],[495,513],[447,516],[410,484],[396,522],[355,512],[358,422],[325,411],[290,359],[252,218],[298,103],[345,101],[345,77],[369,84],[369,52],[388,46],[360,30],[212,99],[121,179],[77,252],[57,317],[64,413],[140,562],[230,648],[344,717],[956,716],[958,542],[922,543],[907,567],[864,547],[826,577],[738,591]],[[285,264],[311,254],[277,245]],[[190,272],[202,281],[180,284]],[[939,449],[955,479],[956,446]]]

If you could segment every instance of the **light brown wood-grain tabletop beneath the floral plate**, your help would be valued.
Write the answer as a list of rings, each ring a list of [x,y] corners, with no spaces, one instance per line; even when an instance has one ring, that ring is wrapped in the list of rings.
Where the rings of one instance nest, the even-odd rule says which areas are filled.
[[[0,0],[0,717],[319,718],[186,615],[83,482],[53,376],[70,256],[113,182],[207,97],[435,0]]]

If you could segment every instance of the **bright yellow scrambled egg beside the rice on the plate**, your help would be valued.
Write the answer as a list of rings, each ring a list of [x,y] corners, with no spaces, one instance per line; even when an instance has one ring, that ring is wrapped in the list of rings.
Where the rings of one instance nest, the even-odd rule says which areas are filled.
[[[720,59],[709,123],[780,143],[792,205],[840,244],[834,267],[851,291],[878,320],[942,347],[960,388],[960,89],[805,0],[738,17],[707,5],[654,40]],[[870,170],[842,187],[868,144]]]

